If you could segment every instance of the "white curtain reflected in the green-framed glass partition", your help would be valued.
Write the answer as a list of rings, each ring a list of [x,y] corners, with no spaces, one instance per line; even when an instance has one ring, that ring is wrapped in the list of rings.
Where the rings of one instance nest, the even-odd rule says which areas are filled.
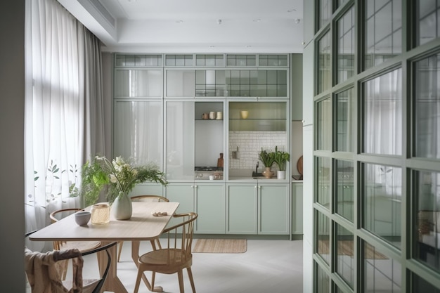
[[[397,69],[365,83],[365,152],[402,154],[402,70]],[[382,185],[375,195],[401,196],[401,168],[368,165],[367,182]]]

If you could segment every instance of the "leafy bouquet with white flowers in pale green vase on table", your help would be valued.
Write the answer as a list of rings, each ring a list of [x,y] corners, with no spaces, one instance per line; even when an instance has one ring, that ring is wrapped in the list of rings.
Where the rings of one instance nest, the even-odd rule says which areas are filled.
[[[107,187],[107,199],[111,212],[117,220],[131,218],[131,200],[129,192],[137,183],[153,181],[167,185],[164,173],[155,164],[135,166],[122,157],[110,162],[103,156],[97,156],[91,163],[86,162],[82,169],[82,195],[86,206],[98,200],[103,188]]]

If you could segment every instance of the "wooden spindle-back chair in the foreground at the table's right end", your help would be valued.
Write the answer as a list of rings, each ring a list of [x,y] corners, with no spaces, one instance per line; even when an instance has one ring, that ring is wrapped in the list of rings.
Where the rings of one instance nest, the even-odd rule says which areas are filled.
[[[153,250],[142,254],[138,258],[138,275],[134,293],[138,292],[139,284],[144,271],[151,271],[151,288],[155,287],[155,274],[177,273],[179,278],[180,292],[183,293],[183,268],[188,271],[193,293],[195,286],[191,265],[193,264],[193,254],[191,247],[193,245],[194,221],[198,214],[191,212],[186,214],[175,214],[173,218],[181,219],[181,223],[166,228],[162,233],[162,240],[167,241],[167,247]]]

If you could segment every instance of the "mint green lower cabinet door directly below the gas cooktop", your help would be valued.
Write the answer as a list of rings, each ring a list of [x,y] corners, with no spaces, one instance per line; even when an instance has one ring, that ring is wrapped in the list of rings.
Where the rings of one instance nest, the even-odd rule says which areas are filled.
[[[195,184],[195,233],[224,234],[226,228],[225,183]]]

